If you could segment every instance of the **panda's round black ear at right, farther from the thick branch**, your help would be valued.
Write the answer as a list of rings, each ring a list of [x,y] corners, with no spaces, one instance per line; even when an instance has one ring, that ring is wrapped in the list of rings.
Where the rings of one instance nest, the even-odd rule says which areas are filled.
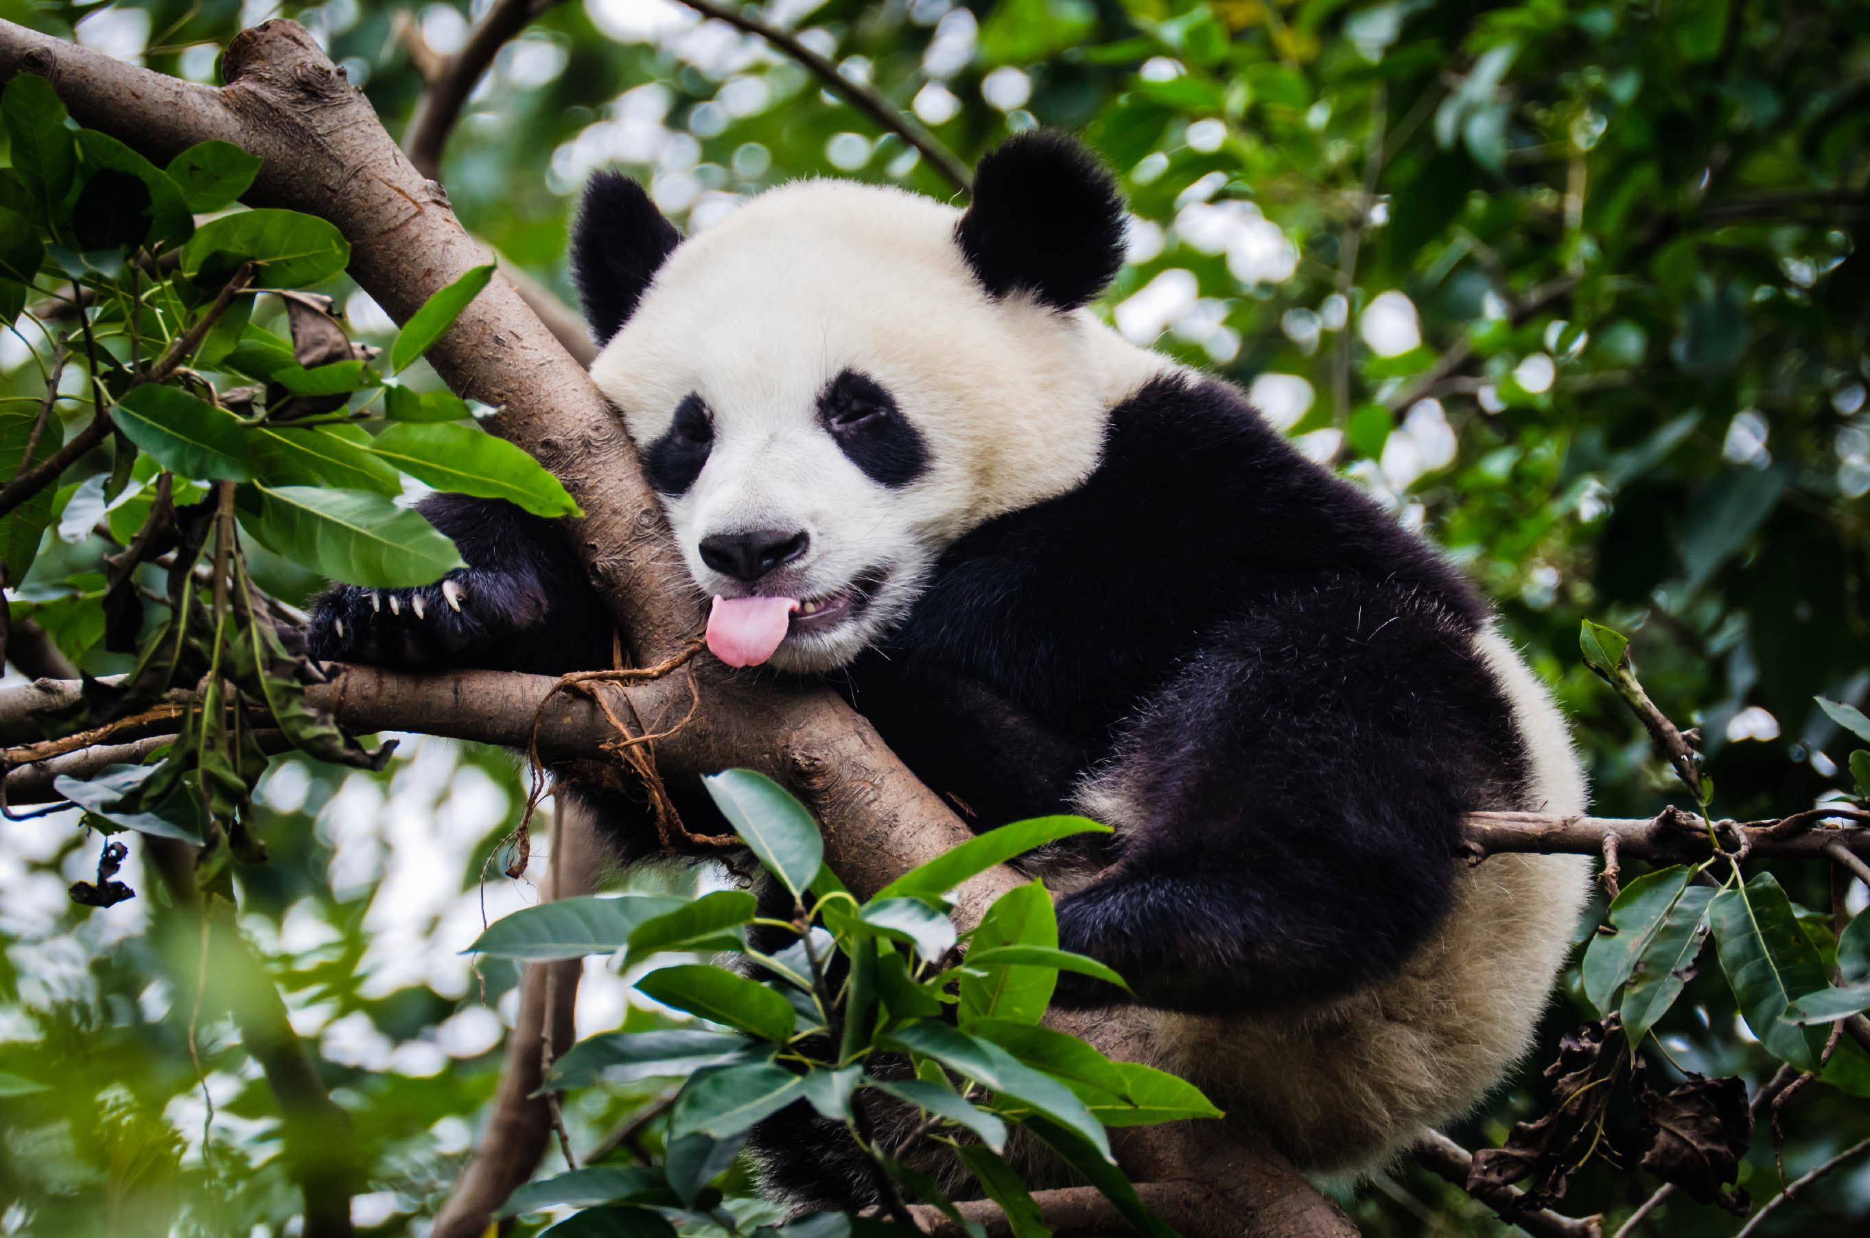
[[[980,161],[956,241],[989,295],[1077,309],[1124,266],[1124,198],[1077,138],[1032,129]]]

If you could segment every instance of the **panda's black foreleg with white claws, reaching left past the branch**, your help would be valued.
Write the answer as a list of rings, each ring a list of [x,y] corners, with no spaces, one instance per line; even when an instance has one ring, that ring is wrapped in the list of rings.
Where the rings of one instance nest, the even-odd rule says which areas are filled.
[[[610,666],[610,617],[552,520],[460,494],[419,511],[468,567],[417,589],[331,587],[307,625],[314,658],[540,675]]]

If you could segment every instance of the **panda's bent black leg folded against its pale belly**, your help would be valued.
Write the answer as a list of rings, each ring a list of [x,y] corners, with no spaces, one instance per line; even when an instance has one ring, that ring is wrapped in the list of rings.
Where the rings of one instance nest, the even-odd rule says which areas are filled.
[[[1460,815],[1520,778],[1472,632],[1414,598],[1305,595],[1245,617],[1141,711],[1109,780],[1118,860],[1058,937],[1135,997],[1249,1014],[1399,971],[1453,900]]]

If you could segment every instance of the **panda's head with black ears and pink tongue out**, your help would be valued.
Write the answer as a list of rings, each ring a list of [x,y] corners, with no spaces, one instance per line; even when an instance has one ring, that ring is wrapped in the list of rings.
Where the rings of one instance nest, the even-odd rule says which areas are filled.
[[[1053,133],[982,159],[965,213],[797,181],[683,241],[634,181],[591,181],[572,236],[591,376],[724,598],[716,653],[842,666],[957,537],[1090,473],[1111,344],[1083,305],[1122,262],[1122,211]]]

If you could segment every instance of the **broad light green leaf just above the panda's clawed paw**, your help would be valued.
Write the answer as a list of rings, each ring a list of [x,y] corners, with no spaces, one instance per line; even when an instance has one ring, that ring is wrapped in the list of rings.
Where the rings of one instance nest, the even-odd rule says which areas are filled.
[[[254,486],[243,524],[273,554],[365,589],[432,585],[468,563],[421,512],[367,490]]]

